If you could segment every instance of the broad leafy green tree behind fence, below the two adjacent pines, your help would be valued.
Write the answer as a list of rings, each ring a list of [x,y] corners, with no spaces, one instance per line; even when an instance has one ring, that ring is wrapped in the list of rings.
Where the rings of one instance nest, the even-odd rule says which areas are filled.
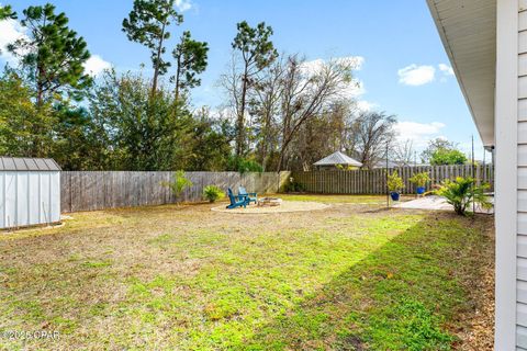
[[[103,126],[110,165],[120,170],[183,168],[192,143],[192,117],[176,113],[173,95],[165,88],[150,94],[142,76],[106,72],[90,98],[96,125]]]

